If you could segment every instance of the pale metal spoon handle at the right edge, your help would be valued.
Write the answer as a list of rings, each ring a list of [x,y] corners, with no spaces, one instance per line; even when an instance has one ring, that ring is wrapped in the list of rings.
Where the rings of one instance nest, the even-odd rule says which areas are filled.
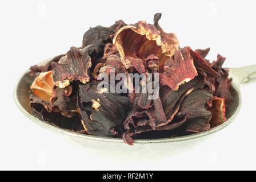
[[[229,72],[237,85],[247,85],[256,82],[256,64],[241,68],[230,68]]]

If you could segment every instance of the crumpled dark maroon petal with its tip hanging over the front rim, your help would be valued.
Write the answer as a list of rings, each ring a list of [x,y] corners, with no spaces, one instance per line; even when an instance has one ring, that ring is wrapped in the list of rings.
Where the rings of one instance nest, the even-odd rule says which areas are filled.
[[[158,97],[156,100],[150,100],[148,96],[141,93],[135,98],[134,108],[123,122],[126,130],[123,140],[127,144],[133,144],[132,137],[135,135],[155,130],[156,127],[167,123],[161,99]]]

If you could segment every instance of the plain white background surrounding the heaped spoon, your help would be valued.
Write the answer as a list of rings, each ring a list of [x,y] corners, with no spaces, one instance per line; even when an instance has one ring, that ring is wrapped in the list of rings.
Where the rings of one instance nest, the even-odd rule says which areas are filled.
[[[214,137],[173,157],[115,160],[42,129],[15,106],[13,87],[30,65],[81,46],[91,26],[146,20],[163,13],[161,26],[181,46],[211,47],[225,67],[255,64],[255,1],[0,1],[0,169],[256,169],[255,90],[243,88],[239,117]],[[171,148],[166,148],[170,150]]]

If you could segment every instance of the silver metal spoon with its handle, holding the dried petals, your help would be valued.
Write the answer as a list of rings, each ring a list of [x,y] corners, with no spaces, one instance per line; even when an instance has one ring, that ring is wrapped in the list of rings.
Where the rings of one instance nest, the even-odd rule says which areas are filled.
[[[38,65],[45,65],[50,59],[39,63]],[[88,148],[97,149],[105,153],[106,151],[118,152],[123,155],[129,153],[129,155],[138,156],[139,154],[152,155],[157,152],[166,154],[177,154],[185,151],[195,144],[201,142],[203,139],[207,138],[211,134],[216,133],[219,130],[224,129],[226,126],[230,125],[231,122],[237,117],[239,109],[241,106],[241,85],[252,83],[256,80],[256,65],[251,65],[249,67],[243,68],[229,68],[230,77],[233,78],[233,83],[231,85],[231,95],[233,101],[226,108],[227,121],[222,125],[215,127],[209,131],[205,131],[198,134],[187,135],[184,137],[177,138],[160,138],[160,139],[137,139],[134,140],[134,146],[128,146],[123,143],[122,139],[118,138],[105,138],[105,137],[95,137],[85,134],[79,134],[72,131],[67,131],[59,127],[49,125],[41,121],[40,119],[34,117],[29,105],[30,96],[30,85],[33,82],[33,77],[29,76],[29,71],[25,72],[21,78],[18,80],[17,85],[14,88],[14,100],[22,111],[31,121],[37,123],[38,125],[44,127],[47,130],[51,130],[54,133],[63,134],[69,136],[75,142],[82,144]],[[145,152],[144,152],[145,151]]]

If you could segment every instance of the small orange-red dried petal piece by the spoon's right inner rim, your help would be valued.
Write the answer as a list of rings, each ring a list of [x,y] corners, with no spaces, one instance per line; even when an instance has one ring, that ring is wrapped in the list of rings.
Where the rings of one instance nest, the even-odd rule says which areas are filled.
[[[225,99],[213,97],[210,100],[209,111],[213,115],[210,121],[211,128],[216,127],[227,121]]]

